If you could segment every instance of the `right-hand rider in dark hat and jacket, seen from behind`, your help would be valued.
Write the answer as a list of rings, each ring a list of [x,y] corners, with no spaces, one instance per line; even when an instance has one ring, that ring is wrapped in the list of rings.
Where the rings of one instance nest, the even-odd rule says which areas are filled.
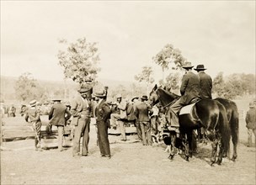
[[[205,66],[200,64],[196,66],[194,70],[198,71],[198,76],[200,78],[200,98],[211,99],[212,79],[210,75],[205,73]]]

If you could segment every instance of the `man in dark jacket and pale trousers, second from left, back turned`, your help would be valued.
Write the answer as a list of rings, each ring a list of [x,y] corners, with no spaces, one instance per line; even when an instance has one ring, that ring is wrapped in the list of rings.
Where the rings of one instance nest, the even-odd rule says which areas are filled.
[[[67,106],[61,103],[61,98],[53,98],[54,102],[49,113],[49,124],[56,125],[58,129],[58,151],[63,151],[63,135],[64,135],[64,126],[66,121],[70,119],[71,114],[67,110]]]

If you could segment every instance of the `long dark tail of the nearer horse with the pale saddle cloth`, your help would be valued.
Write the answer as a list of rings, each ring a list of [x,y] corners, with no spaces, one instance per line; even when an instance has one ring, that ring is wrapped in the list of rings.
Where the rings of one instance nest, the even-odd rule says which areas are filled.
[[[221,145],[223,153],[227,154],[230,150],[231,129],[227,120],[226,108],[221,103],[218,103],[218,106],[220,109],[218,124],[221,134]]]

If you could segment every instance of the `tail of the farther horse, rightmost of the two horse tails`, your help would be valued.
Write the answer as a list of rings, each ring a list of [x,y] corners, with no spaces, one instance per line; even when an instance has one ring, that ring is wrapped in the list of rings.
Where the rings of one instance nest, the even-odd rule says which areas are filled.
[[[239,113],[237,109],[237,104],[232,102],[232,114],[230,119],[230,129],[231,129],[231,135],[232,135],[232,143],[233,145],[237,145],[239,140]]]

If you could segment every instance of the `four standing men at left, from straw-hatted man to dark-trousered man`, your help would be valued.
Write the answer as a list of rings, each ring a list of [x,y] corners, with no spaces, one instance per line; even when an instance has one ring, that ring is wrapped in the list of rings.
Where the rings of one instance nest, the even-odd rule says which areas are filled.
[[[91,81],[89,81],[91,82]],[[61,98],[53,98],[54,104],[49,113],[49,124],[55,125],[58,130],[58,150],[63,151],[64,126],[67,120],[71,119],[71,125],[75,127],[72,138],[72,156],[88,156],[88,142],[91,117],[96,116],[98,128],[99,150],[101,156],[110,158],[108,139],[108,119],[110,118],[109,104],[106,103],[106,89],[102,92],[94,92],[96,101],[92,100],[93,87],[84,85],[77,90],[77,97],[72,100],[71,106],[61,103]],[[97,102],[97,103],[96,103]],[[94,110],[94,113],[93,113]],[[37,107],[36,100],[29,102],[29,108],[25,114],[25,120],[31,122],[35,130],[35,150],[42,151],[40,145],[40,108]],[[80,140],[83,138],[82,150],[80,150]]]

